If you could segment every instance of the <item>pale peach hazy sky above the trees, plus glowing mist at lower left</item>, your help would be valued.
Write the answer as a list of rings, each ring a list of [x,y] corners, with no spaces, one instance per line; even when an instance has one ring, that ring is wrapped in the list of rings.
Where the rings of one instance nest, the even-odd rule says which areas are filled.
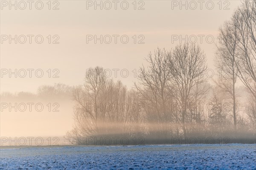
[[[9,1],[4,2],[9,3]],[[58,82],[79,85],[84,82],[86,69],[97,65],[110,69],[112,77],[115,73],[113,69],[119,69],[116,79],[120,79],[125,85],[131,87],[133,81],[136,81],[134,69],[138,72],[149,51],[154,51],[157,47],[166,49],[175,47],[180,43],[180,40],[172,39],[175,35],[177,37],[181,35],[183,38],[186,35],[188,37],[195,35],[194,37],[197,37],[199,45],[207,55],[209,68],[214,68],[215,44],[207,43],[206,37],[214,37],[217,42],[218,28],[231,17],[234,9],[241,3],[239,0],[204,1],[202,9],[200,9],[200,3],[196,3],[197,8],[192,10],[194,4],[189,3],[190,1],[183,1],[187,2],[188,9],[186,10],[186,6],[182,6],[182,10],[180,10],[179,4],[177,5],[180,1],[146,0],[137,1],[136,10],[134,10],[134,1],[132,0],[126,1],[129,4],[127,10],[120,7],[122,1],[117,3],[116,10],[114,3],[110,10],[104,8],[100,10],[99,6],[95,10],[94,6],[87,6],[94,1],[61,0],[56,1],[59,4],[51,4],[51,8],[58,5],[59,10],[49,10],[48,1],[42,2],[44,7],[41,10],[36,9],[34,3],[31,10],[29,10],[28,3],[24,10],[19,8],[15,10],[14,7],[9,10],[9,5],[6,6],[6,3],[1,1],[1,73],[4,72],[3,69],[8,71],[9,69],[12,71],[25,69],[27,74],[25,78],[19,76],[15,78],[14,74],[11,75],[11,78],[9,78],[9,74],[2,75],[1,92],[36,92],[40,85],[54,85]],[[100,1],[97,2],[100,3]],[[211,3],[214,4],[212,10],[209,9]],[[23,8],[24,4],[17,5]],[[108,4],[105,5],[108,8]],[[125,3],[122,5],[125,8]],[[40,7],[40,4],[38,6]],[[142,6],[141,8],[144,10],[137,10],[139,6]],[[224,7],[229,9],[224,10]],[[15,44],[15,40],[12,40],[10,44],[9,40],[5,40],[6,35],[8,39],[9,35],[12,38],[15,35],[17,37],[24,36],[20,36],[17,44]],[[30,36],[32,37],[31,44],[27,35],[34,36]],[[44,38],[41,44],[35,42],[37,35]],[[48,42],[49,35],[51,37],[50,44]],[[54,35],[56,36],[53,37]],[[95,44],[91,40],[87,43],[87,35],[96,35],[97,37],[110,35],[112,42],[101,44],[100,40],[97,40]],[[119,37],[116,36],[116,43],[112,35],[119,35]],[[122,35],[129,38],[128,43],[121,42]],[[134,35],[136,37],[135,44]],[[204,36],[202,43],[200,43],[198,35]],[[26,42],[21,44],[24,37],[26,37]],[[53,40],[57,38],[59,38],[57,40],[59,43],[52,44]],[[145,39],[142,40],[143,38]],[[108,41],[108,37],[105,40]],[[123,40],[125,41],[125,38]],[[139,40],[142,40],[144,44],[138,44]],[[209,40],[211,41],[211,39]],[[38,41],[40,41],[40,37]],[[29,77],[27,69],[34,69],[32,78]],[[42,78],[35,76],[37,69],[42,69],[44,73]],[[51,70],[49,71],[49,69]],[[58,70],[53,71],[54,69]],[[122,69],[129,71],[127,78],[123,78],[125,72],[123,72],[123,77],[120,75]],[[49,72],[51,72],[51,78],[49,78]],[[40,74],[39,71],[37,76],[40,77]],[[53,78],[54,74],[59,78]],[[20,75],[23,76],[22,70],[20,70]],[[41,116],[41,113],[33,116],[31,113],[2,113],[1,136],[64,135],[67,130],[72,128],[72,108],[60,108],[60,111],[62,112],[47,113],[44,116]],[[32,121],[38,119],[40,122]]]

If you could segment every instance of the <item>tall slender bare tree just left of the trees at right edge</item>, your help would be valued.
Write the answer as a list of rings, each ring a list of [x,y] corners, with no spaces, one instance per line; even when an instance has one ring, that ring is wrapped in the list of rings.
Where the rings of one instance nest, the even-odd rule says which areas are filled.
[[[215,84],[221,88],[233,101],[233,122],[236,130],[236,92],[235,85],[238,75],[236,60],[239,57],[238,51],[238,30],[230,22],[226,22],[219,30],[219,46],[217,46],[216,65],[220,71],[220,77]]]

